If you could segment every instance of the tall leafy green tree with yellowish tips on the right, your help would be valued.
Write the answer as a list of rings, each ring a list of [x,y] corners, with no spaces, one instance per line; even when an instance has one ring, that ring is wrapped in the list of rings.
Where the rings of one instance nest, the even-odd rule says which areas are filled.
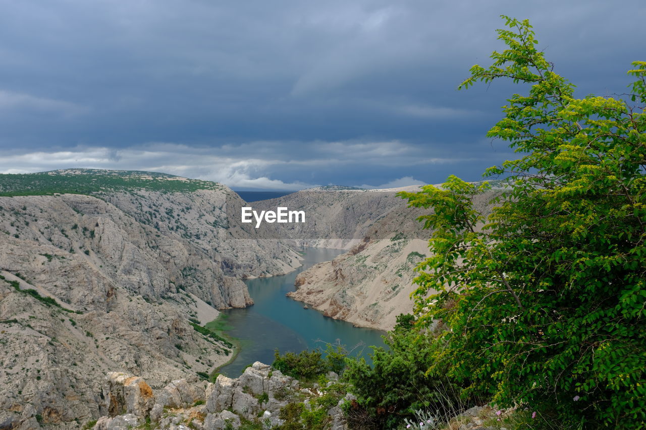
[[[574,98],[528,21],[509,17],[493,64],[460,88],[525,84],[488,136],[520,158],[489,215],[490,189],[451,176],[403,192],[434,229],[415,282],[416,325],[448,325],[430,372],[447,369],[499,405],[555,411],[566,425],[646,428],[646,62],[622,97]]]

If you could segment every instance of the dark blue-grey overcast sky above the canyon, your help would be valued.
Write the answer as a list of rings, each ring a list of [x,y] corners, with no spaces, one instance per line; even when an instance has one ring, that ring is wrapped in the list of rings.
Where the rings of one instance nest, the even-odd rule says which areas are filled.
[[[508,83],[456,87],[529,18],[578,96],[625,92],[643,0],[0,0],[0,172],[234,189],[477,180]]]

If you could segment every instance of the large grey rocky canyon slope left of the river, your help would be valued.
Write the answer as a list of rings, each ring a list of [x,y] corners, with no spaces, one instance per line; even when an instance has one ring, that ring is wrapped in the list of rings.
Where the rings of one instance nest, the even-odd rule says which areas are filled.
[[[39,415],[45,425],[76,425],[107,415],[108,372],[140,374],[152,388],[211,372],[231,346],[189,318],[208,316],[203,324],[214,307],[245,307],[252,300],[240,278],[300,264],[276,241],[227,240],[214,227],[219,191],[102,199],[0,197],[0,422],[18,427]]]

